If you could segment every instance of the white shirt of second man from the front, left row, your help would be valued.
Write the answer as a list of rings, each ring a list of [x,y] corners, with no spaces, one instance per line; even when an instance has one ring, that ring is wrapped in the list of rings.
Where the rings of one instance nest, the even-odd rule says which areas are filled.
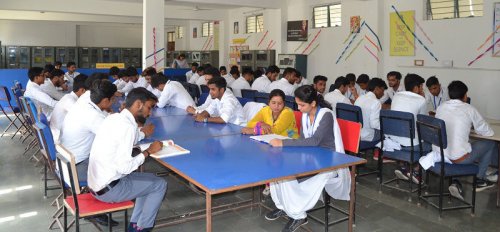
[[[103,112],[93,102],[77,104],[66,115],[60,140],[61,144],[73,153],[76,163],[89,158],[95,134],[106,115],[107,113]]]

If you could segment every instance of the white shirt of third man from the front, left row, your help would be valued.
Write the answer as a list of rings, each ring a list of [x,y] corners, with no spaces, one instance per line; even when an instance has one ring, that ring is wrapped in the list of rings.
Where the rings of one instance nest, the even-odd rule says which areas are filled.
[[[50,118],[50,130],[54,136],[54,141],[59,141],[59,134],[61,133],[61,129],[63,127],[64,118],[66,118],[66,114],[75,105],[77,100],[78,96],[76,96],[75,92],[71,91],[70,93],[64,95],[64,97],[61,98],[61,100],[57,102],[54,107],[52,117]]]

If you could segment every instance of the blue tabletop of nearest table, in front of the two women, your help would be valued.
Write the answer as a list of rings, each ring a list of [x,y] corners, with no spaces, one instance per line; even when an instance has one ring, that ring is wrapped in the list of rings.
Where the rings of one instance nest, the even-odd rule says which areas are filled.
[[[186,123],[189,125],[189,123]],[[198,137],[198,136],[197,136]],[[321,147],[273,148],[247,135],[178,140],[190,154],[160,159],[211,194],[365,160]]]

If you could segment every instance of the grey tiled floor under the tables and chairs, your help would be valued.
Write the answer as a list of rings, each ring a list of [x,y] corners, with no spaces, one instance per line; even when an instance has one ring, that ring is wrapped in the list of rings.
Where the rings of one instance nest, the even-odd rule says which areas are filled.
[[[4,128],[5,118],[0,117],[0,128]],[[34,166],[28,161],[29,155],[22,155],[25,144],[10,137],[0,138],[0,231],[47,231],[54,207],[50,202],[60,190],[49,191],[47,199],[43,197],[41,165]],[[373,164],[371,164],[373,165]],[[390,168],[386,168],[386,177],[390,177]],[[146,164],[146,171],[163,170],[154,161]],[[163,202],[159,217],[182,215],[191,210],[204,209],[204,197],[191,191],[185,182],[173,176],[166,177],[169,183],[166,200]],[[54,184],[55,182],[53,182]],[[466,184],[470,197],[470,184]],[[235,200],[249,199],[250,190],[223,194],[214,199],[214,204],[224,204]],[[405,193],[384,188],[378,191],[378,181],[374,176],[363,177],[357,184],[357,215],[355,231],[500,231],[500,209],[495,207],[496,188],[477,194],[476,214],[470,210],[445,212],[441,219],[437,210],[422,204],[417,206],[416,198],[407,201]],[[266,199],[272,206],[272,201]],[[345,207],[346,202],[335,202]],[[448,204],[445,201],[445,204]],[[245,208],[217,215],[213,218],[213,231],[281,231],[286,220],[267,221],[266,210]],[[316,213],[323,217],[322,212]],[[120,226],[114,231],[123,231],[123,214],[114,219]],[[129,214],[130,215],[130,214]],[[333,217],[340,215],[334,214]],[[82,231],[98,231],[92,224],[81,220]],[[107,228],[103,228],[104,231]],[[170,227],[157,228],[155,231],[204,231],[205,220],[191,221]],[[346,231],[343,222],[330,227],[330,231]],[[72,228],[74,231],[74,228]],[[318,223],[309,220],[303,231],[323,231]]]

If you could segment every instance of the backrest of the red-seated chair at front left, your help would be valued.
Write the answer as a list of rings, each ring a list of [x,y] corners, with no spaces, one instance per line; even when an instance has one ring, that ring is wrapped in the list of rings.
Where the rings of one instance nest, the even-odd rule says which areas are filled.
[[[80,194],[80,184],[78,182],[78,172],[76,170],[75,156],[71,154],[62,145],[56,145],[57,150],[57,166],[59,168],[59,174],[61,176],[62,183],[71,187],[71,192],[73,197]],[[64,188],[64,186],[63,186]]]

